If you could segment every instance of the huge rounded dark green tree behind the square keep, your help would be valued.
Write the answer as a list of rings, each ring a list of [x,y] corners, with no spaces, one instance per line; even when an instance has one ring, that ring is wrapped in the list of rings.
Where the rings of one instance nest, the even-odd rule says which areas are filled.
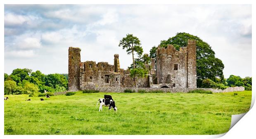
[[[180,47],[187,46],[188,39],[197,41],[197,87],[201,87],[201,83],[204,79],[211,79],[216,82],[216,77],[219,77],[221,82],[223,82],[224,64],[220,59],[215,57],[215,52],[211,49],[211,46],[202,41],[199,37],[180,32],[168,40],[161,41],[160,47],[166,48],[168,44],[172,44],[176,50],[179,50]],[[153,47],[150,51],[154,52],[154,49]]]

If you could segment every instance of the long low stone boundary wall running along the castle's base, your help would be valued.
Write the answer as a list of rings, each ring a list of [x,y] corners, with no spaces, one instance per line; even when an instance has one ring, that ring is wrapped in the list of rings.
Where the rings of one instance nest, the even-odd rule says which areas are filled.
[[[229,87],[224,90],[211,89],[211,88],[148,88],[148,87],[141,87],[141,88],[135,88],[135,87],[92,87],[92,88],[90,88],[90,87],[88,87],[88,88],[84,88],[84,89],[85,90],[86,89],[95,89],[95,90],[99,90],[100,92],[117,92],[117,93],[122,93],[126,89],[135,90],[136,92],[138,90],[145,90],[145,91],[161,90],[164,92],[171,92],[171,93],[176,93],[176,92],[187,93],[188,91],[197,90],[197,89],[212,91],[213,93],[244,91],[244,87]]]

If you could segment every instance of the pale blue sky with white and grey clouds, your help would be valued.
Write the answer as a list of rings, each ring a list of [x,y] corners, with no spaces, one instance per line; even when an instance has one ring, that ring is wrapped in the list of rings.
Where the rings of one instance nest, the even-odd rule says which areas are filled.
[[[5,73],[30,68],[68,73],[69,46],[81,61],[121,68],[132,56],[118,47],[126,34],[144,50],[187,32],[210,44],[225,65],[224,75],[251,76],[251,5],[5,5]]]

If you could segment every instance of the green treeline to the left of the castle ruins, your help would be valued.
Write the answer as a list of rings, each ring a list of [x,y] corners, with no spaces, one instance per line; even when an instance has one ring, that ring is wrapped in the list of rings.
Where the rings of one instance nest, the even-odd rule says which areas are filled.
[[[28,68],[17,68],[10,75],[5,73],[5,95],[29,94],[38,96],[40,93],[66,91],[68,89],[67,74],[48,74],[40,71],[32,72]]]

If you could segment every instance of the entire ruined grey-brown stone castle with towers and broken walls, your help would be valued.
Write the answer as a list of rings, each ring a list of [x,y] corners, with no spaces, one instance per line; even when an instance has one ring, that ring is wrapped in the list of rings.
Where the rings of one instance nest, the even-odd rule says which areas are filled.
[[[69,91],[88,88],[196,88],[196,41],[188,40],[187,47],[176,50],[172,45],[158,47],[156,59],[145,66],[145,77],[132,78],[129,71],[120,68],[119,55],[114,55],[114,65],[107,62],[81,62],[80,48],[69,47]],[[147,54],[146,54],[147,55]]]

